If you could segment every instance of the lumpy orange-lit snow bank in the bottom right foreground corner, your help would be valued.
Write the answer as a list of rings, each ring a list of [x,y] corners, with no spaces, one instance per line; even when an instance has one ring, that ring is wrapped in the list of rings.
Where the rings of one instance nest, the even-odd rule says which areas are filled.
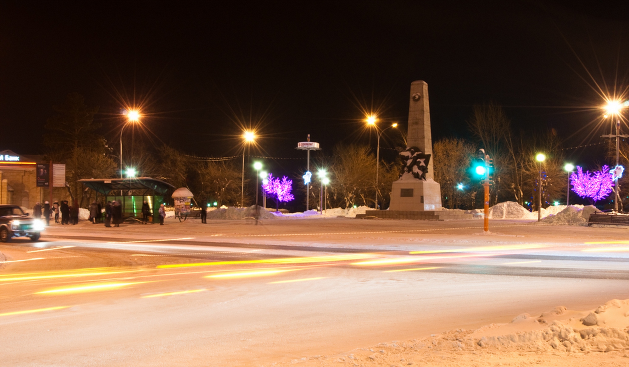
[[[550,326],[545,326],[547,324]],[[539,326],[542,329],[538,329]],[[520,331],[496,332],[514,327]],[[523,329],[533,330],[521,331]],[[479,337],[484,333],[488,335]],[[560,306],[537,318],[523,314],[510,324],[481,327],[470,334],[470,338],[481,348],[567,352],[625,350],[629,348],[629,300],[611,300],[592,312],[569,312]]]

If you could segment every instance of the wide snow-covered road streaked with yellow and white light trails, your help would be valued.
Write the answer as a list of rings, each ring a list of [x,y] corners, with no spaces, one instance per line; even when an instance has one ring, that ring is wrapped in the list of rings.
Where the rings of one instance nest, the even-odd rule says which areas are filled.
[[[167,224],[1,245],[2,365],[267,366],[629,298],[624,228]]]

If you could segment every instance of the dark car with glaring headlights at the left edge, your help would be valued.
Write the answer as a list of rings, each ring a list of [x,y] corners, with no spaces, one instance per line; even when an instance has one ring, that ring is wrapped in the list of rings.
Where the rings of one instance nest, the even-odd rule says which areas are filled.
[[[0,241],[8,242],[14,237],[30,237],[37,241],[43,231],[44,222],[33,219],[18,205],[0,205]]]

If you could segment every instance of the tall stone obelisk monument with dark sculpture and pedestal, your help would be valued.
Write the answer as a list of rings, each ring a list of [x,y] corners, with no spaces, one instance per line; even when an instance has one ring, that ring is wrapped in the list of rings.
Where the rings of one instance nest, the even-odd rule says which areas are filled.
[[[441,188],[433,180],[432,136],[428,84],[411,83],[408,108],[406,151],[401,152],[406,167],[391,190],[391,211],[440,211]]]

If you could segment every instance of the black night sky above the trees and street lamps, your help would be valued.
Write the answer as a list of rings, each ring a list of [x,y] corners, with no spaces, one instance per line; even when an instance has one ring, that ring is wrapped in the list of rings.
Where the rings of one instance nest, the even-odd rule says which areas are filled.
[[[258,153],[299,157],[308,133],[328,152],[369,142],[364,110],[404,125],[420,79],[433,140],[468,136],[472,106],[495,101],[516,129],[555,128],[570,147],[601,141],[602,128],[586,133],[603,104],[596,85],[629,81],[627,6],[217,3],[0,5],[0,149],[41,153],[52,106],[79,92],[113,141],[135,101],[147,144],[238,155],[239,125],[251,125]]]

